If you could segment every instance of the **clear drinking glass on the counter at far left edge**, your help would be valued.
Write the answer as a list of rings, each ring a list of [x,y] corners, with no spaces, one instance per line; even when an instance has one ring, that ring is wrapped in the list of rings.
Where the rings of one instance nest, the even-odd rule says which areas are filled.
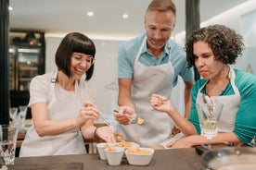
[[[0,158],[5,164],[14,164],[18,127],[0,125]]]

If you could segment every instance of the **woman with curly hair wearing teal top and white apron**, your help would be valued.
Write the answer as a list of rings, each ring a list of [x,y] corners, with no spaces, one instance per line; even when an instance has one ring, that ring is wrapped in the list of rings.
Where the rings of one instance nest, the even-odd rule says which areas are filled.
[[[211,25],[195,30],[186,41],[186,57],[190,67],[197,67],[202,77],[191,91],[189,119],[179,115],[170,100],[158,94],[151,96],[156,110],[167,113],[186,136],[171,139],[166,147],[193,147],[208,143],[249,143],[256,135],[256,75],[234,69],[242,54],[242,37],[224,25]],[[211,139],[200,135],[196,103],[223,103],[218,134]]]

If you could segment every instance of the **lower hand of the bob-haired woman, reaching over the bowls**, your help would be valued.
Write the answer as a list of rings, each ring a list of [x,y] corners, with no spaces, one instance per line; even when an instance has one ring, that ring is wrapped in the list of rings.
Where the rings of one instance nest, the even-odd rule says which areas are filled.
[[[106,142],[116,142],[116,138],[108,126],[96,128],[96,137]]]

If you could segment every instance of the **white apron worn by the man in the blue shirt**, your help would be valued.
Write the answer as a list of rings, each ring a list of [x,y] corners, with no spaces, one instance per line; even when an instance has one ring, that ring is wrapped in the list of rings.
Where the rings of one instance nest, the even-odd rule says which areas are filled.
[[[144,66],[139,62],[143,46],[142,42],[134,60],[134,79],[132,99],[135,112],[145,121],[142,125],[122,126],[123,139],[134,141],[144,147],[152,147],[172,136],[173,120],[169,115],[153,109],[149,100],[152,93],[159,93],[171,98],[173,89],[173,65],[169,63],[159,66]]]

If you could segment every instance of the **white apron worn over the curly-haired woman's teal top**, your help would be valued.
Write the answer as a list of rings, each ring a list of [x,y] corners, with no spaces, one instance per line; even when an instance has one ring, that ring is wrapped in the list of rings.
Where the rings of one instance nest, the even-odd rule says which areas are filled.
[[[230,67],[228,74],[230,83],[235,94],[224,96],[211,96],[212,103],[224,103],[222,115],[218,123],[218,132],[232,132],[235,127],[237,109],[241,101],[241,96],[235,85],[236,74],[233,68]],[[208,81],[207,81],[208,82]],[[203,103],[203,93],[200,91],[206,86],[207,82],[198,90],[196,103]]]

